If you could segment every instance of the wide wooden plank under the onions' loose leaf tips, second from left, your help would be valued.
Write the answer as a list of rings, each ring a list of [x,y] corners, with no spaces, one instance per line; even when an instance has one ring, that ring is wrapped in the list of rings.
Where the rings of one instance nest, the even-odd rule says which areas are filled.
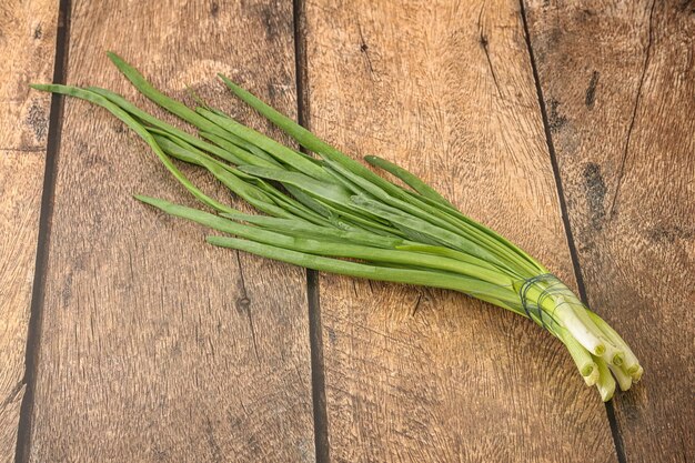
[[[68,82],[144,104],[105,50],[254,125],[216,72],[296,111],[290,2],[73,1]],[[192,203],[122,123],[68,100],[30,460],[312,461],[304,272],[205,245],[135,192]]]

